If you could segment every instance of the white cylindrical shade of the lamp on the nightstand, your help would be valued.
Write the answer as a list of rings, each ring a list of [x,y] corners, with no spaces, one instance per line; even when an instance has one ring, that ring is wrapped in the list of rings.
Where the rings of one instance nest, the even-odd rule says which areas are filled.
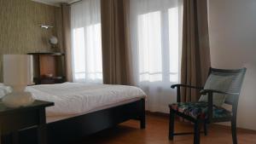
[[[3,55],[3,83],[11,86],[32,84],[32,56]]]

